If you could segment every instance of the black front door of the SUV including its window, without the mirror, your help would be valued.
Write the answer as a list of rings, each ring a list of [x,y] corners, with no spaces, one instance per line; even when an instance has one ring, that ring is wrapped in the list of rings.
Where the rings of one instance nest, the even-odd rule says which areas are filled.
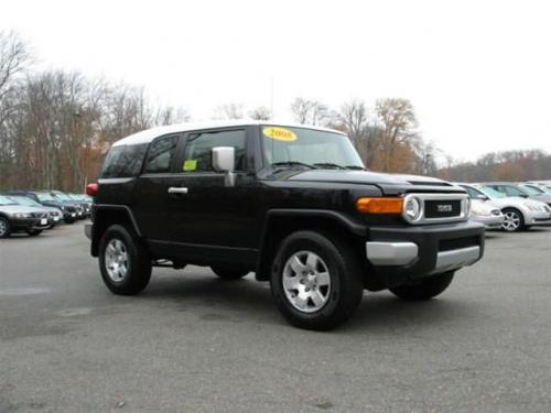
[[[173,180],[177,192],[170,200],[172,241],[184,256],[198,261],[253,259],[256,181],[248,171],[246,132],[235,128],[187,134]],[[225,186],[225,173],[213,169],[216,146],[235,148],[235,186]]]

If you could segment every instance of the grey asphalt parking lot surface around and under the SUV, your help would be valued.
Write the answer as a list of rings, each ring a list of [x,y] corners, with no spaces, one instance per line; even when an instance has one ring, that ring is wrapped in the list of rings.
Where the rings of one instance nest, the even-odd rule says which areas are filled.
[[[104,286],[83,225],[0,240],[0,412],[549,412],[551,229],[494,232],[426,303],[288,325],[268,285],[155,269]]]

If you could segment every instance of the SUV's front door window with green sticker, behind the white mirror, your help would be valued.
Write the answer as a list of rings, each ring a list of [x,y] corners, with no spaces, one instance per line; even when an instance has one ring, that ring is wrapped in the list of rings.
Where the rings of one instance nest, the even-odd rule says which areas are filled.
[[[192,133],[185,145],[182,172],[212,172],[213,148],[234,146],[236,171],[245,171],[245,130]]]

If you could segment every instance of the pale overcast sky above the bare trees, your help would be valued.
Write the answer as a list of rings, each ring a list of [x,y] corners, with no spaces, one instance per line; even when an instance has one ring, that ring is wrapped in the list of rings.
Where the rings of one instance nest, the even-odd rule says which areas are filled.
[[[144,85],[196,119],[227,102],[411,99],[456,159],[551,152],[548,1],[3,1],[44,68]],[[273,79],[273,80],[272,80]]]

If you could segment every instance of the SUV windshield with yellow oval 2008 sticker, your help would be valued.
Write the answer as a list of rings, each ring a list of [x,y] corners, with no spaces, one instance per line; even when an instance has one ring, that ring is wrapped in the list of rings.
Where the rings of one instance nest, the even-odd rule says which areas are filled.
[[[277,166],[364,169],[350,140],[341,133],[305,128],[262,128],[268,163]]]

